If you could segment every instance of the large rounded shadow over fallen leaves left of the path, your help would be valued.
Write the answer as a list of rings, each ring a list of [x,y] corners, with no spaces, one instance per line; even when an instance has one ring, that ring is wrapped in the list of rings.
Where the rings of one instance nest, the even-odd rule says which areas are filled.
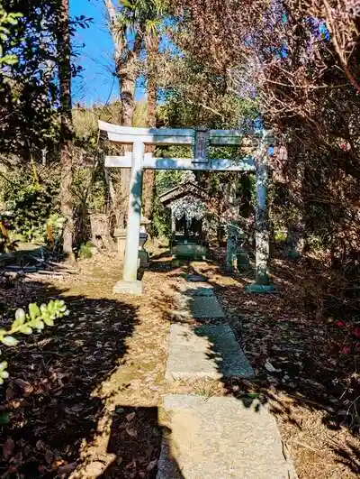
[[[15,307],[63,293],[46,283],[27,282],[26,297],[21,288],[14,296],[7,293],[2,326],[14,317]],[[126,339],[138,322],[137,310],[119,300],[64,299],[68,317],[41,335],[19,336],[16,348],[2,348],[10,373],[0,390],[0,427],[10,448],[0,462],[6,477],[50,478],[76,463],[81,443],[93,440],[104,414],[104,398],[96,388],[121,364]]]

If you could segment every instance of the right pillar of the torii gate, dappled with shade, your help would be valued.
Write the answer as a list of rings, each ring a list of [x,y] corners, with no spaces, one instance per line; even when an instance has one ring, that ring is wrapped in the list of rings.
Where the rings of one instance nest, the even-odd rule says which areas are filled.
[[[256,277],[255,283],[248,286],[251,292],[269,292],[274,290],[268,276],[269,262],[269,227],[267,216],[267,180],[268,180],[268,147],[266,134],[260,140],[257,150],[257,207],[256,207]]]

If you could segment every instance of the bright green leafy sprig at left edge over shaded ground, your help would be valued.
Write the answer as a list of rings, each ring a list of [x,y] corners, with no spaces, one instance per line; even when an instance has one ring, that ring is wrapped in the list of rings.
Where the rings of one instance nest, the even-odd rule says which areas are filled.
[[[0,343],[5,346],[13,347],[19,343],[13,335],[23,334],[31,335],[33,330],[42,331],[45,326],[54,326],[55,319],[67,316],[69,311],[65,302],[60,299],[51,299],[48,304],[41,304],[40,308],[36,303],[30,303],[28,311],[17,309],[13,324],[9,329],[0,330]],[[9,377],[6,371],[7,362],[0,363],[0,384]]]

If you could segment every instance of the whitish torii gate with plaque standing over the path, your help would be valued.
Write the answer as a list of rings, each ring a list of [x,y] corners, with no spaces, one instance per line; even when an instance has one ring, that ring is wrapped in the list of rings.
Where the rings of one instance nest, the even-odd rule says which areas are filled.
[[[130,143],[132,152],[124,156],[106,156],[105,167],[130,168],[130,198],[127,224],[125,258],[122,280],[114,286],[116,293],[141,294],[141,281],[137,281],[139,228],[141,217],[142,171],[196,170],[196,171],[256,171],[256,282],[247,289],[254,292],[273,290],[267,272],[269,233],[267,226],[266,189],[269,146],[274,143],[271,131],[254,130],[251,136],[257,141],[256,152],[241,160],[208,157],[209,146],[240,145],[245,134],[238,130],[132,128],[99,121],[99,129],[107,132],[113,143]],[[192,158],[155,158],[145,153],[145,144],[192,145]]]

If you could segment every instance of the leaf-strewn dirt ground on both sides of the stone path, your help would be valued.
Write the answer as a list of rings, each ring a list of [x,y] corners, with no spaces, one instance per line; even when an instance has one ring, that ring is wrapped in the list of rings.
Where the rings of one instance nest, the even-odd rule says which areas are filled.
[[[106,255],[81,262],[78,272],[0,290],[2,326],[31,301],[62,298],[70,310],[16,349],[2,348],[10,380],[0,390],[0,477],[155,477],[167,391],[269,401],[300,478],[356,477],[358,356],[343,357],[333,326],[294,305],[292,264],[273,264],[278,293],[268,296],[245,292],[251,273],[228,276],[218,264],[176,267],[166,253],[155,255],[140,298],[112,294],[121,264]],[[256,369],[253,382],[164,382],[174,295],[187,272],[214,286]]]

